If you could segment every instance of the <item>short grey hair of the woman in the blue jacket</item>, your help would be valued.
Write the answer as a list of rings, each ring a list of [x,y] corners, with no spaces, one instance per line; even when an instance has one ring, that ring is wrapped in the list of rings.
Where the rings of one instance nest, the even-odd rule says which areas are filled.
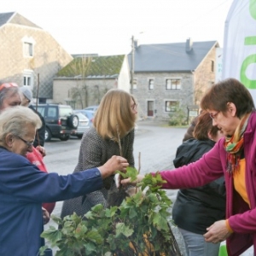
[[[6,108],[0,114],[0,142],[4,143],[7,134],[14,136],[26,136],[26,125],[32,125],[35,129],[42,126],[41,119],[32,109],[22,106]]]

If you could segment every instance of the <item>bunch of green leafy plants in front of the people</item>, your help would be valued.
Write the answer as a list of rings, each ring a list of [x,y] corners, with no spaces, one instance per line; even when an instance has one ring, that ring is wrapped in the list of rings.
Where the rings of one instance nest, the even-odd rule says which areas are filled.
[[[137,170],[128,167],[123,177],[135,179]],[[127,196],[119,207],[96,205],[83,217],[76,213],[63,219],[52,216],[61,229],[50,226],[41,236],[51,247],[58,247],[56,256],[180,255],[168,224],[172,201],[160,189],[161,183],[159,173],[147,174],[137,184],[137,193]],[[45,248],[41,247],[41,255]]]

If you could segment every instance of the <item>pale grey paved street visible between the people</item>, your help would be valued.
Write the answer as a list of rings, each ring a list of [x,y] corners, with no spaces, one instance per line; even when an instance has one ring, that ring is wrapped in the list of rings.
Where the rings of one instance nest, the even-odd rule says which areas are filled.
[[[172,168],[172,160],[175,157],[177,147],[182,143],[185,128],[173,128],[156,125],[150,121],[138,122],[134,143],[134,157],[136,167],[138,167],[138,155],[141,153],[141,173],[155,172]],[[73,172],[77,164],[79,155],[80,140],[70,139],[67,142],[53,140],[45,144],[47,156],[44,158],[49,172],[67,174]],[[177,190],[166,190],[172,201],[175,200]],[[62,202],[57,202],[53,214],[59,216]],[[55,225],[52,221],[44,226]],[[176,236],[177,243],[185,256],[183,239],[176,227],[172,225],[172,230]],[[244,256],[253,255],[253,249],[249,249]]]

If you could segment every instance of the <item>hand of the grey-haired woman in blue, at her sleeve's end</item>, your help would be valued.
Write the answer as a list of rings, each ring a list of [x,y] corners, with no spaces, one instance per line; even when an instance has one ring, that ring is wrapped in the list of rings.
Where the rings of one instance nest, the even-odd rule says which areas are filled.
[[[126,167],[129,166],[129,163],[125,158],[113,155],[103,166],[98,167],[100,172],[102,172],[102,178],[106,178],[110,175],[113,175],[116,171],[126,172]]]

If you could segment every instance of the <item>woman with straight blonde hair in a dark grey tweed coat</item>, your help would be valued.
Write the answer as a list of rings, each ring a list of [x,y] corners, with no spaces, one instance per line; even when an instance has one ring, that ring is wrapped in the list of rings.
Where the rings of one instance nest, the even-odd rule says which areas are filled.
[[[137,119],[137,103],[125,90],[108,90],[103,96],[94,118],[94,126],[84,133],[79,151],[79,162],[74,172],[101,166],[114,154],[127,159],[134,166],[134,126]],[[110,189],[111,188],[111,189]],[[116,189],[113,177],[105,181],[105,187],[79,198],[65,201],[61,218],[76,212],[79,216],[96,204],[104,207],[119,204],[125,198]]]

